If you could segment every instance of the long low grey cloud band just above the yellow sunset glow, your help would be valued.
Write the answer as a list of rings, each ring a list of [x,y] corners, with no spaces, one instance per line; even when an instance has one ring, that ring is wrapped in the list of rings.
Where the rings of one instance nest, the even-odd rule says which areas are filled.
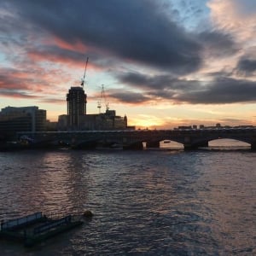
[[[119,79],[121,83],[141,88],[143,95],[151,97],[151,101],[162,99],[175,103],[193,104],[256,101],[256,83],[246,79],[219,78],[203,82],[176,79],[166,75],[148,76],[142,73],[123,74]],[[119,100],[122,101],[122,98]]]

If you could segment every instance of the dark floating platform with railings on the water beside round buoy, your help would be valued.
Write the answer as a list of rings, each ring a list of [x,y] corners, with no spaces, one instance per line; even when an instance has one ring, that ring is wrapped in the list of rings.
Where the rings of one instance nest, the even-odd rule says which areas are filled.
[[[48,218],[42,212],[35,212],[22,218],[1,222],[0,237],[10,241],[21,241],[32,247],[51,236],[71,230],[84,222],[78,216],[67,215],[62,218]]]

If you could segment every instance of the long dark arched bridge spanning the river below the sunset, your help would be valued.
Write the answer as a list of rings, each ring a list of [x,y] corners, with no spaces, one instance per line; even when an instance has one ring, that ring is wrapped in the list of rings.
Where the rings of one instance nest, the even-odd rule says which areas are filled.
[[[215,128],[186,130],[122,130],[122,131],[45,131],[19,132],[18,138],[27,138],[35,145],[68,145],[72,148],[122,147],[143,149],[157,148],[160,142],[171,140],[182,143],[184,149],[207,147],[208,142],[230,138],[251,144],[256,149],[255,128]]]

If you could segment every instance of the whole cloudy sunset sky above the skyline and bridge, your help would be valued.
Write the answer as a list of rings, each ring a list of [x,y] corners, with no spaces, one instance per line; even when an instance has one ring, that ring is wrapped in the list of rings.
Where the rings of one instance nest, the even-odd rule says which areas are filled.
[[[0,108],[84,90],[129,125],[256,125],[255,0],[1,0]],[[102,112],[106,102],[102,99]]]

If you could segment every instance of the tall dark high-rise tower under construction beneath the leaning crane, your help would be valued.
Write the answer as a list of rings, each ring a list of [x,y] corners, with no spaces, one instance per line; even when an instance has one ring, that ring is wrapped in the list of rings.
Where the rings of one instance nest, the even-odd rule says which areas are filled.
[[[79,130],[81,120],[86,114],[87,95],[80,86],[72,86],[67,94],[67,125],[69,129]]]

